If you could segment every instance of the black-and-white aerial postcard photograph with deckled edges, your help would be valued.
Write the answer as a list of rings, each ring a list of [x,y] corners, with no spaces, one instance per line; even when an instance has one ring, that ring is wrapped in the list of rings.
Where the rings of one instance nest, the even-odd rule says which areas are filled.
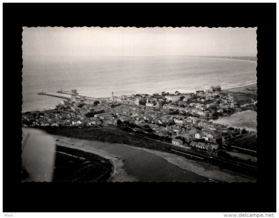
[[[256,182],[257,27],[23,27],[22,182]]]

